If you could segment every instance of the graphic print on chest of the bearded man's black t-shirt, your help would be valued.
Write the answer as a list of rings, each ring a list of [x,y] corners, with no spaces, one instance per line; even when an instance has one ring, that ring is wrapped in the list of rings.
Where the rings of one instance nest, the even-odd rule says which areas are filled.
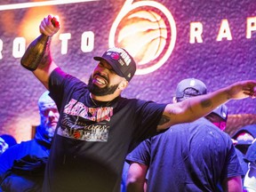
[[[57,133],[76,140],[108,141],[111,116],[112,107],[88,108],[72,99],[64,108]]]

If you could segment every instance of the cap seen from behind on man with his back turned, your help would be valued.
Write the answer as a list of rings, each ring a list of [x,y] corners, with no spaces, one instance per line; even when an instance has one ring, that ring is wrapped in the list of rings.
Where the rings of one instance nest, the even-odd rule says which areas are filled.
[[[203,95],[207,93],[207,87],[204,84],[204,82],[200,81],[196,78],[187,78],[180,81],[179,84],[177,84],[176,88],[176,98],[184,98],[185,96],[196,96],[196,95],[188,95],[186,93],[186,90],[188,88],[192,88],[196,90],[196,95]]]

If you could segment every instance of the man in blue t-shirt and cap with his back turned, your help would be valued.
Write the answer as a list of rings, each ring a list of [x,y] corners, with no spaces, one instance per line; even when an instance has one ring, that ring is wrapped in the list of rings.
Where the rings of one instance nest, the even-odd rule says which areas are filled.
[[[198,79],[182,80],[174,102],[206,93]],[[127,192],[242,191],[242,169],[226,127],[227,107],[216,108],[208,118],[177,124],[140,143],[126,156],[130,164]],[[224,119],[224,120],[223,120]],[[220,127],[220,130],[218,127]]]

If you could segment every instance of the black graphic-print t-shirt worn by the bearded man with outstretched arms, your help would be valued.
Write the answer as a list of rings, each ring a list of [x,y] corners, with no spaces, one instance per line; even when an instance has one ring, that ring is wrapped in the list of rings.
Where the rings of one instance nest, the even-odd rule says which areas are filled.
[[[120,96],[95,106],[87,84],[60,68],[49,87],[60,119],[44,191],[119,191],[125,156],[156,134],[166,105]]]

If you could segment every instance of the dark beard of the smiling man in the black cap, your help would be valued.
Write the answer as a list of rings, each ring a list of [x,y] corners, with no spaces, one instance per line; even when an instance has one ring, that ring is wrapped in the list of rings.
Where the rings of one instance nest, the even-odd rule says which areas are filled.
[[[96,95],[96,96],[105,96],[105,95],[113,94],[116,91],[117,87],[118,87],[118,84],[100,88],[97,85],[92,84],[92,76],[90,76],[89,82],[88,82],[88,90],[92,92],[93,95]]]

